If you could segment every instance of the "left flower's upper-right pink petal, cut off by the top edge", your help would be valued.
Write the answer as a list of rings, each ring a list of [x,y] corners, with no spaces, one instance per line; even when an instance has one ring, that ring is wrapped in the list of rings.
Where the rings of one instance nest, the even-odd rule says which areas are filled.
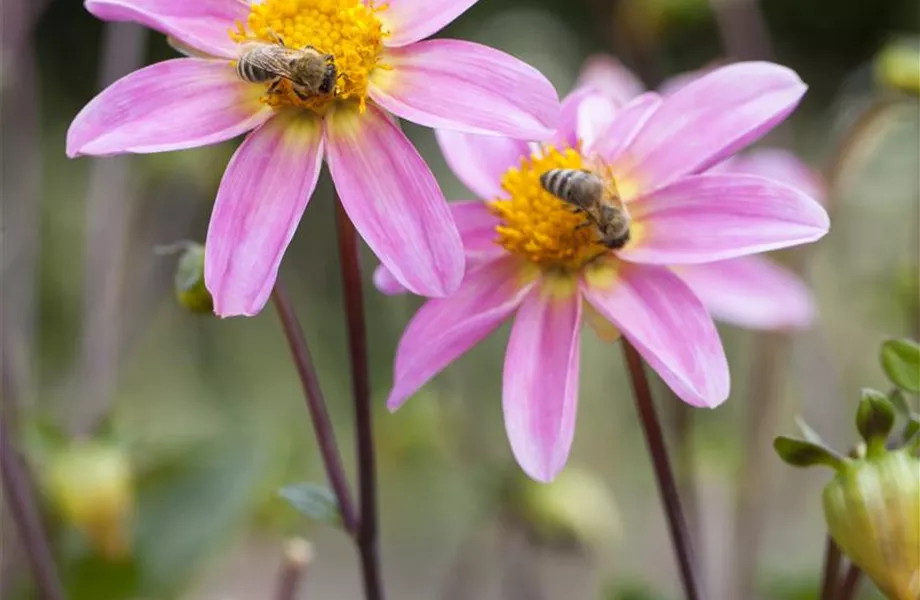
[[[465,13],[477,1],[387,0],[386,10],[377,13],[390,31],[384,43],[390,48],[396,48],[423,40]]]

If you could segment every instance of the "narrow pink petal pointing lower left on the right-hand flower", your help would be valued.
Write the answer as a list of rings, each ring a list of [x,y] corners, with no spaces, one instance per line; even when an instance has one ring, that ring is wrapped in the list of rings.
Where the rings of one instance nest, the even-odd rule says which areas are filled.
[[[387,407],[396,410],[432,377],[494,331],[521,303],[532,284],[520,263],[505,258],[471,270],[457,293],[426,302],[396,350]]]

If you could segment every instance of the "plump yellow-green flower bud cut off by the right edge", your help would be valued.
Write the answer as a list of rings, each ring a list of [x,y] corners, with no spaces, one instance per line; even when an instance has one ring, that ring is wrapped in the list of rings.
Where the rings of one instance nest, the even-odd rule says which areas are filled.
[[[920,598],[920,459],[900,450],[848,462],[824,488],[824,517],[888,598]]]

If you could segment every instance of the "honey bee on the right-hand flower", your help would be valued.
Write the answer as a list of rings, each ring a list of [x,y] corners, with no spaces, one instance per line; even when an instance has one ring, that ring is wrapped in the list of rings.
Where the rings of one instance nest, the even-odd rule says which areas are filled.
[[[540,184],[550,194],[584,213],[587,221],[576,229],[593,225],[600,243],[617,250],[629,241],[632,220],[620,199],[616,185],[583,169],[552,169],[540,176]]]

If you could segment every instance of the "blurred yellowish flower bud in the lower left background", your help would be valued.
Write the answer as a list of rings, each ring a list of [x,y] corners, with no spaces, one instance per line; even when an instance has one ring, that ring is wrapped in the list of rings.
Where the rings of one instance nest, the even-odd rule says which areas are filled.
[[[131,465],[120,448],[81,441],[59,450],[51,457],[46,488],[61,518],[101,555],[128,554],[134,493]]]

